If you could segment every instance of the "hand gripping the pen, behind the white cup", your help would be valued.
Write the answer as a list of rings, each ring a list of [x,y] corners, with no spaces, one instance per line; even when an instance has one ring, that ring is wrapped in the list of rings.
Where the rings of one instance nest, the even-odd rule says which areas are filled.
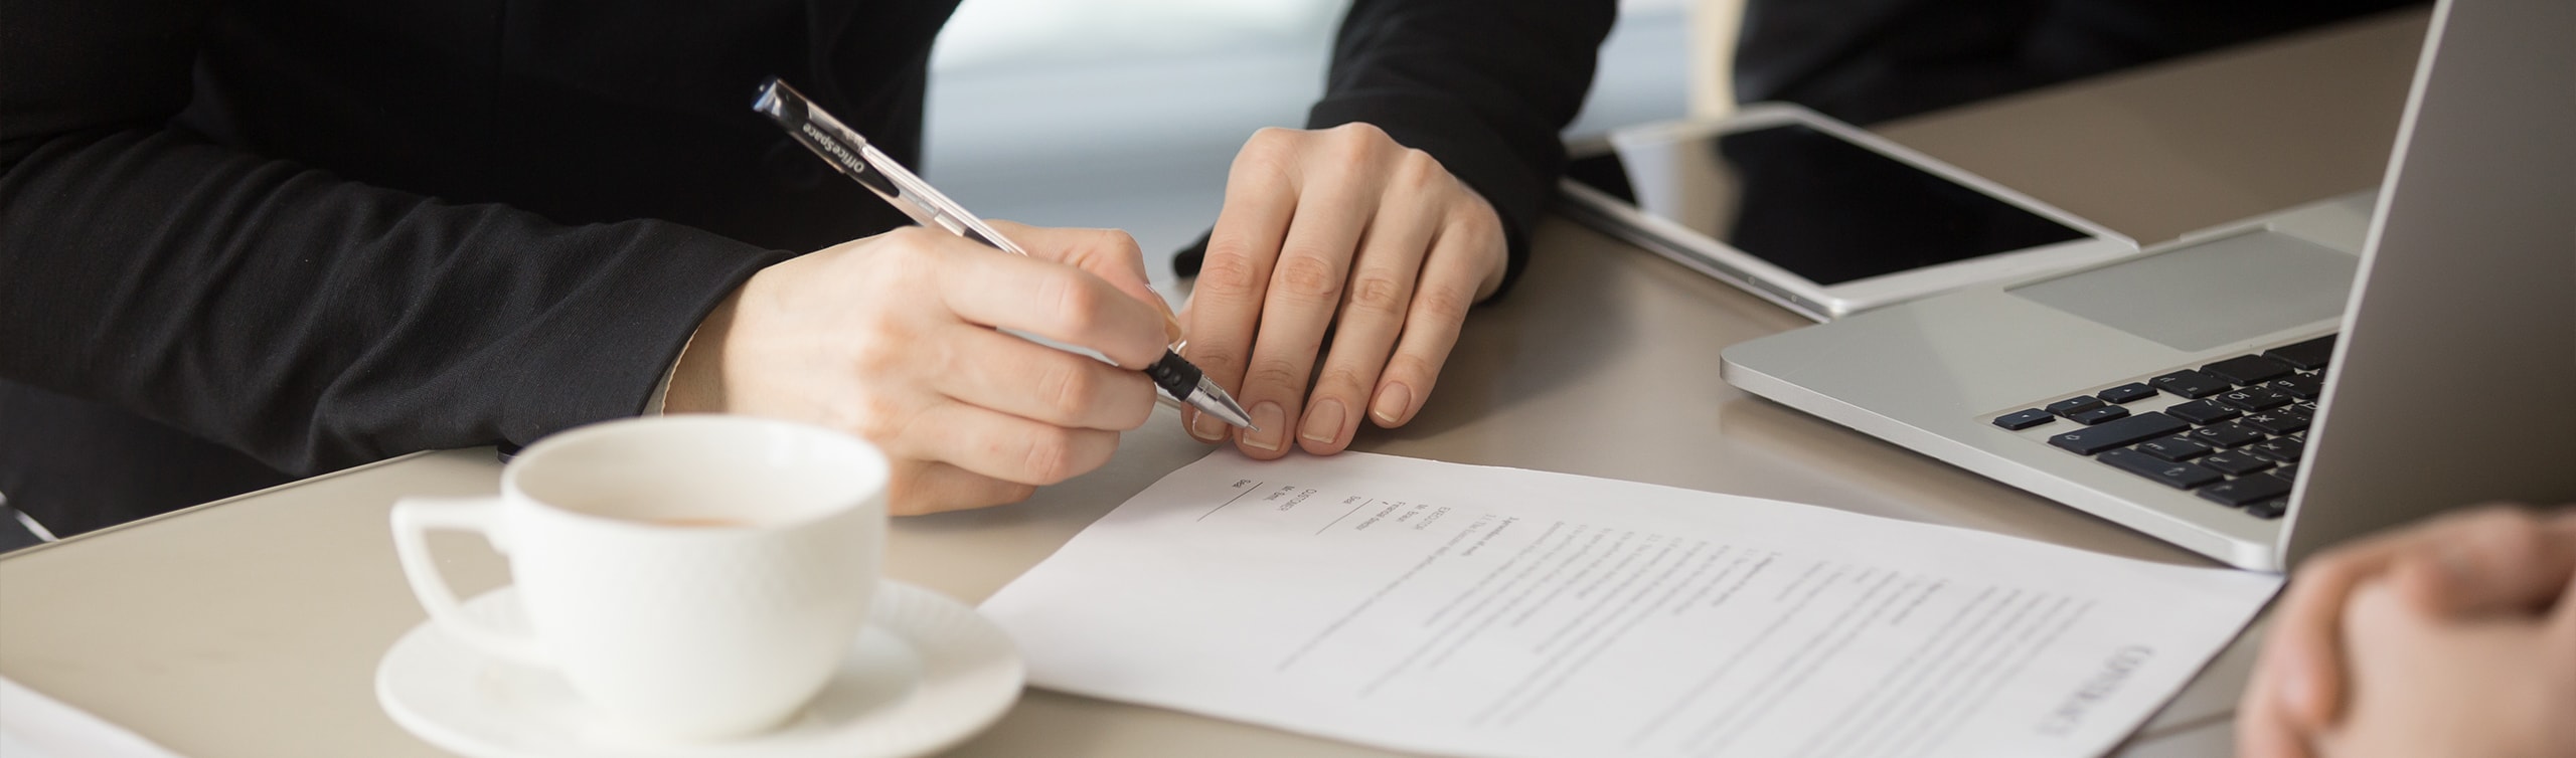
[[[1154,383],[997,329],[1151,365],[1172,316],[1136,239],[994,226],[1030,257],[907,226],[752,275],[698,326],[665,411],[799,419],[876,442],[894,514],[1028,498],[1108,463]]]

